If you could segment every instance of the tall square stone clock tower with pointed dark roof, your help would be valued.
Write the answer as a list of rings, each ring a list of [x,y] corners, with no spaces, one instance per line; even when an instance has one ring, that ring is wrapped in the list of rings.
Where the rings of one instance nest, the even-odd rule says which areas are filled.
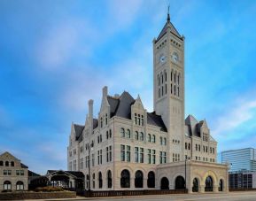
[[[153,40],[154,111],[167,127],[167,162],[184,159],[184,37],[170,21]]]

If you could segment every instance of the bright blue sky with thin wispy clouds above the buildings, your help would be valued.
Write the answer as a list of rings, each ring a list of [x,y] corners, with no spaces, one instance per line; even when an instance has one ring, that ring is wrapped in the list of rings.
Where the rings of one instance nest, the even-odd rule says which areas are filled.
[[[167,18],[185,35],[186,115],[206,118],[218,150],[255,147],[256,2],[0,0],[0,152],[66,169],[72,121],[101,89],[152,111],[152,39]]]

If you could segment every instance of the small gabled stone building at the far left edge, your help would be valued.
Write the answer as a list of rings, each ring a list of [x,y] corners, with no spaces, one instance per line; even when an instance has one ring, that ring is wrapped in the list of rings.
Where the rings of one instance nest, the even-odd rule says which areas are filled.
[[[27,190],[27,166],[9,152],[0,155],[0,192]]]

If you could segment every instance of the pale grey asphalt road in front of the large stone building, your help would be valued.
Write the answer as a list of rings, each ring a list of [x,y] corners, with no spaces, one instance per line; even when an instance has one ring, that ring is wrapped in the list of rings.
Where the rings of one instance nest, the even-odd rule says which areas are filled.
[[[60,199],[58,199],[60,200]],[[69,200],[70,199],[63,199]],[[186,195],[151,195],[139,197],[99,197],[99,198],[82,198],[77,197],[74,200],[100,200],[100,201],[256,201],[256,191],[232,192],[232,193],[205,193],[205,194],[186,194]],[[53,201],[53,200],[52,200]],[[56,200],[57,201],[57,200]]]

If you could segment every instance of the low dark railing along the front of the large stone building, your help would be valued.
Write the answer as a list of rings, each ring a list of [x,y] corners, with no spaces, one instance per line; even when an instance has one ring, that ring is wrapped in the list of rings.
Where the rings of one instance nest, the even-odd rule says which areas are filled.
[[[188,193],[188,189],[144,189],[144,190],[108,190],[108,191],[84,191],[85,197],[123,197],[163,194]]]

